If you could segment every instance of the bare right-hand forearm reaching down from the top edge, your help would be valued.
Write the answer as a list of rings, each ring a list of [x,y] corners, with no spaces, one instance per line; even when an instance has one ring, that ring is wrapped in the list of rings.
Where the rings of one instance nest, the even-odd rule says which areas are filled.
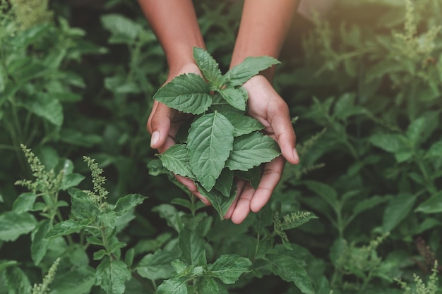
[[[292,23],[298,0],[246,0],[230,67],[248,56],[277,58]],[[273,78],[274,68],[265,71]]]

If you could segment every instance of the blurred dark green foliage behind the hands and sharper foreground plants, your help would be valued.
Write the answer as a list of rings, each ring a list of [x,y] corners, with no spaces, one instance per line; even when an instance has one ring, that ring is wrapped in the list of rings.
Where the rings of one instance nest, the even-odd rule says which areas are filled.
[[[207,49],[225,71],[241,1],[194,3]],[[102,293],[94,278],[97,247],[82,243],[81,233],[72,233],[74,245],[49,247],[36,264],[35,223],[28,231],[11,229],[14,203],[27,191],[14,183],[33,173],[20,144],[47,170],[75,166],[86,176],[83,155],[96,159],[110,204],[131,193],[148,196],[117,234],[127,245],[122,255],[135,249],[135,264],[171,247],[179,233],[174,219],[187,211],[169,203],[187,196],[167,176],[149,174],[155,151],[145,131],[151,98],[166,78],[164,55],[133,1],[2,0],[0,10],[0,293],[20,293],[11,277],[27,290],[42,283],[57,257],[49,293],[85,276],[81,293]],[[200,210],[207,214],[200,223],[209,263],[223,254],[251,257],[244,248],[266,232],[256,223],[275,226],[266,220],[275,212],[308,210],[318,219],[285,236],[316,293],[441,293],[438,275],[431,276],[441,258],[441,13],[439,0],[340,0],[326,21],[294,20],[275,87],[297,118],[301,164],[286,167],[272,204],[241,226]],[[92,189],[80,176],[73,184]],[[57,197],[68,204],[59,207],[68,219],[71,197],[64,190]],[[41,221],[37,208],[26,213]],[[274,240],[274,255],[282,254],[281,244]],[[83,265],[73,262],[76,256]],[[261,265],[253,259],[253,274],[229,293],[309,293],[292,276]],[[143,285],[152,291],[163,279],[148,278],[145,286],[128,278],[126,293],[145,293]]]

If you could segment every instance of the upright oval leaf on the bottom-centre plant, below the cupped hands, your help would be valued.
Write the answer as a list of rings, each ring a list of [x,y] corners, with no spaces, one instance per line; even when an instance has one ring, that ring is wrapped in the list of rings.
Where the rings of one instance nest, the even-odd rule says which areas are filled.
[[[179,249],[182,258],[192,265],[198,264],[198,257],[204,250],[203,237],[196,230],[183,228],[179,232]]]

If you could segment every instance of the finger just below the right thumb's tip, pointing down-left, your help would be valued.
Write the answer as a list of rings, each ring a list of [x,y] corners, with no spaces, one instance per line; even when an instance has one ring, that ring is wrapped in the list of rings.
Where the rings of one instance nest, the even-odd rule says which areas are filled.
[[[250,203],[250,209],[252,212],[259,212],[268,202],[273,190],[275,190],[277,183],[281,179],[284,164],[285,159],[283,157],[277,157],[268,164],[265,164],[263,176],[261,176],[258,188]]]

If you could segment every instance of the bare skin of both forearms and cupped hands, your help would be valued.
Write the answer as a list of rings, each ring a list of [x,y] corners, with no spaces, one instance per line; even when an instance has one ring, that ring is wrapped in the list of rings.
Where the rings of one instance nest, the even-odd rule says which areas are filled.
[[[193,47],[205,48],[196,14],[190,0],[138,0],[162,45],[169,65],[166,83],[183,73],[201,75],[193,61]],[[287,30],[297,8],[295,0],[246,0],[241,16],[237,41],[230,67],[248,56],[273,56],[277,58],[287,35]],[[170,16],[174,16],[173,18]],[[225,219],[241,223],[250,212],[258,212],[270,199],[279,182],[285,161],[298,164],[295,148],[296,136],[289,109],[284,99],[273,89],[271,80],[275,68],[269,68],[244,84],[249,93],[249,115],[261,121],[265,133],[280,146],[282,156],[263,166],[263,175],[255,190],[250,183],[237,180],[237,197],[229,207]],[[183,114],[165,104],[154,102],[148,119],[148,131],[152,135],[150,146],[162,153],[174,145],[174,137]],[[197,190],[193,181],[177,176],[178,180],[200,198],[210,204]]]

